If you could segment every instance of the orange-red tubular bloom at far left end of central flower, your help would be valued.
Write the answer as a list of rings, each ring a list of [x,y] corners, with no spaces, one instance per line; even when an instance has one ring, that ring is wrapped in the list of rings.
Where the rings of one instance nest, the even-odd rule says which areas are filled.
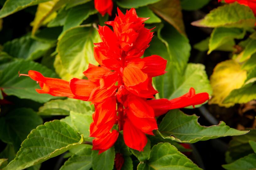
[[[70,90],[69,82],[58,78],[47,78],[37,71],[30,70],[31,79],[39,82],[42,89],[35,89],[37,93],[48,93],[52,96],[74,97]]]

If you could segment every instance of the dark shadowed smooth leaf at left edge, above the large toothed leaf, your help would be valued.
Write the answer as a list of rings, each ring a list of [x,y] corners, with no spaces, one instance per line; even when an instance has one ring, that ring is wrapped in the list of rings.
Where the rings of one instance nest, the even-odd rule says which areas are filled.
[[[19,108],[0,117],[0,139],[14,145],[16,152],[30,131],[41,125],[43,120],[32,109]]]

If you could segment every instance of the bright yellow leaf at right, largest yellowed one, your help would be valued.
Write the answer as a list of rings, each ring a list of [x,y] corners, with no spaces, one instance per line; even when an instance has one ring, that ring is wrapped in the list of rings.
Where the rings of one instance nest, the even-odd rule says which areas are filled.
[[[246,79],[246,71],[234,60],[226,60],[219,63],[210,77],[213,88],[212,98],[209,104],[230,107],[235,103],[223,103],[224,99],[234,89],[241,88]]]

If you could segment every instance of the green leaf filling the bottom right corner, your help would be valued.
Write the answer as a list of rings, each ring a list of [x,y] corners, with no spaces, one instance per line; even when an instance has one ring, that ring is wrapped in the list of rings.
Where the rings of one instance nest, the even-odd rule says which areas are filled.
[[[227,170],[254,170],[256,169],[256,154],[252,153],[230,164],[222,165]]]

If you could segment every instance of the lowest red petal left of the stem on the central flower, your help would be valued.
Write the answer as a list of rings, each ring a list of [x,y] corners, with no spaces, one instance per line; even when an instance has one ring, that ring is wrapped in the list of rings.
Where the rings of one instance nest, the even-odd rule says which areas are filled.
[[[118,138],[119,133],[113,130],[112,133],[107,134],[102,138],[95,138],[92,141],[92,150],[99,150],[99,154],[111,148]]]

